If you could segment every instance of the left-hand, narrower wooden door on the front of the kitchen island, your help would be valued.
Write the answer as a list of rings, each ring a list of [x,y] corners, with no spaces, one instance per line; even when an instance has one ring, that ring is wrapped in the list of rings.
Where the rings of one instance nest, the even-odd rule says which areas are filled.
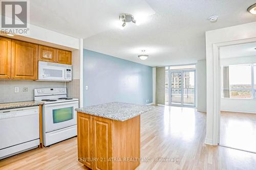
[[[92,116],[77,113],[78,161],[93,169]]]

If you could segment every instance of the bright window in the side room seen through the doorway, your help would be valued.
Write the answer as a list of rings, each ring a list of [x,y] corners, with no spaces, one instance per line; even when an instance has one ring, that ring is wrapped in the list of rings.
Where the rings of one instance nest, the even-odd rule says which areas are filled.
[[[256,82],[253,82],[253,70],[253,64],[223,66],[222,97],[254,99]]]

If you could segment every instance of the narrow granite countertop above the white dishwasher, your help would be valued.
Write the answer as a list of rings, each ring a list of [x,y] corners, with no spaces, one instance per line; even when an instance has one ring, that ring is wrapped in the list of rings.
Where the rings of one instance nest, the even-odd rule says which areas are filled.
[[[15,109],[20,107],[44,105],[44,102],[26,101],[26,102],[13,102],[13,103],[0,103],[0,110]]]

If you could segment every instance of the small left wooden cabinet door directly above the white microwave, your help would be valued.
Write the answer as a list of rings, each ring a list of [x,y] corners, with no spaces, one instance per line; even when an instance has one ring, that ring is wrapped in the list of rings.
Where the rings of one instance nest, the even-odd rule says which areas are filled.
[[[38,52],[39,61],[56,62],[56,48],[39,45]]]

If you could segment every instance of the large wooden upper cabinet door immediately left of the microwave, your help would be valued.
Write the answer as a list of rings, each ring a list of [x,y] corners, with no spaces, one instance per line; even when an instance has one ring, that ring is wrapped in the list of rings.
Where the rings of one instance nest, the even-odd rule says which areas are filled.
[[[38,45],[12,40],[12,79],[37,80]]]

